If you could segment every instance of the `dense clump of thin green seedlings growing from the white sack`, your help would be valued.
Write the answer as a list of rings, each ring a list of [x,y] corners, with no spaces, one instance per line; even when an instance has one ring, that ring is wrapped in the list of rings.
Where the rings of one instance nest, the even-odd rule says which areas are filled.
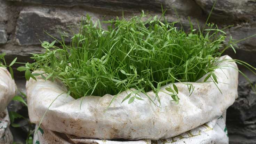
[[[174,82],[195,82],[217,68],[217,57],[224,50],[236,46],[232,39],[223,47],[226,33],[214,24],[207,29],[194,29],[185,33],[174,23],[162,17],[149,17],[145,14],[130,19],[117,18],[107,21],[108,29],[101,27],[100,21],[93,23],[87,16],[80,25],[80,32],[71,38],[70,45],[64,39],[42,42],[43,54],[33,54],[34,63],[27,63],[18,70],[25,71],[25,77],[35,79],[58,78],[67,86],[67,94],[75,99],[83,96],[105,94],[118,95],[124,90],[136,88],[132,93],[145,93],[153,90],[156,99],[161,86]],[[220,51],[223,49],[223,51]],[[31,74],[42,70],[44,73]],[[43,74],[48,74],[44,76]],[[185,83],[192,93],[193,86]],[[178,102],[178,89],[167,88],[174,101]],[[129,94],[125,99],[132,103],[142,100],[139,95]],[[153,102],[153,100],[151,99]]]

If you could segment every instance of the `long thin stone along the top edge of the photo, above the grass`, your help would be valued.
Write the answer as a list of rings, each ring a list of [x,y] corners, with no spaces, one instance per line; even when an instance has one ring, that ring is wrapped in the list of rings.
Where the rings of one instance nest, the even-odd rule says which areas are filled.
[[[50,6],[85,6],[90,8],[107,9],[111,11],[130,10],[153,10],[160,11],[163,8],[172,9],[175,7],[179,13],[198,15],[201,13],[200,7],[192,0],[9,0],[24,3],[34,3]],[[173,11],[169,11],[173,12]]]

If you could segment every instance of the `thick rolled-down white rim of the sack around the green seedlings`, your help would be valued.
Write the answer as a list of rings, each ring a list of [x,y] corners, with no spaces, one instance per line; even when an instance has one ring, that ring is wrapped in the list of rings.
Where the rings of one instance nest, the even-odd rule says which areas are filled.
[[[221,68],[214,71],[218,84],[203,82],[206,74],[197,82],[189,82],[195,87],[189,96],[187,85],[175,83],[179,90],[178,104],[166,94],[169,92],[165,88],[171,84],[163,86],[161,90],[166,93],[158,94],[161,108],[143,93],[139,95],[144,101],[121,103],[131,93],[123,91],[105,111],[114,96],[106,94],[74,99],[67,96],[67,89],[59,80],[30,79],[26,83],[29,117],[38,125],[48,110],[41,123],[44,129],[90,139],[158,140],[174,137],[218,118],[237,98],[237,65],[229,56],[222,56],[219,61],[222,61],[218,64]],[[153,91],[147,95],[152,99],[155,97]]]

